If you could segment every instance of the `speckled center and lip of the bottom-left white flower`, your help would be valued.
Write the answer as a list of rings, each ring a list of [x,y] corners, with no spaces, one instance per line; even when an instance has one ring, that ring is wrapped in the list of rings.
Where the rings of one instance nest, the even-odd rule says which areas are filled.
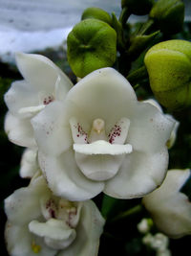
[[[64,249],[72,244],[82,203],[46,195],[40,198],[40,206],[45,220],[29,223],[32,234],[44,238],[44,243],[53,249]],[[38,253],[40,250],[41,247],[32,240],[32,251]]]

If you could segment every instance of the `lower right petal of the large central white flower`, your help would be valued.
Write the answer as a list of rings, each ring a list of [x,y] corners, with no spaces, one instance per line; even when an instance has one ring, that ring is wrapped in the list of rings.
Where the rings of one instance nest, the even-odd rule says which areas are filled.
[[[164,179],[168,152],[133,151],[127,154],[116,176],[107,180],[104,193],[113,198],[140,198],[156,189]]]

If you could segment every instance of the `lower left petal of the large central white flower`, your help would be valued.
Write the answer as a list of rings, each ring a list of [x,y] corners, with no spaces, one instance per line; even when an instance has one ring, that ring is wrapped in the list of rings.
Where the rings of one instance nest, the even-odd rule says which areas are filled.
[[[74,152],[66,151],[57,157],[39,152],[39,163],[53,194],[69,200],[96,197],[104,187],[102,182],[86,178],[76,166]]]

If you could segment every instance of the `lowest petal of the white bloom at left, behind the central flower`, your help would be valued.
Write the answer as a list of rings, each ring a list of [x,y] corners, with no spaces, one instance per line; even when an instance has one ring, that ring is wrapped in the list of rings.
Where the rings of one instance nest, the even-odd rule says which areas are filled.
[[[8,112],[5,119],[5,130],[12,143],[32,149],[36,148],[29,118],[19,119]]]

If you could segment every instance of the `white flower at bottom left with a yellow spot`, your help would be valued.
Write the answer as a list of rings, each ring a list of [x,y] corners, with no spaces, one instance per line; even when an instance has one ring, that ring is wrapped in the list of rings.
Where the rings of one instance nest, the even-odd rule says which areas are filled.
[[[57,198],[42,176],[5,200],[11,256],[96,256],[104,220],[96,204]]]

